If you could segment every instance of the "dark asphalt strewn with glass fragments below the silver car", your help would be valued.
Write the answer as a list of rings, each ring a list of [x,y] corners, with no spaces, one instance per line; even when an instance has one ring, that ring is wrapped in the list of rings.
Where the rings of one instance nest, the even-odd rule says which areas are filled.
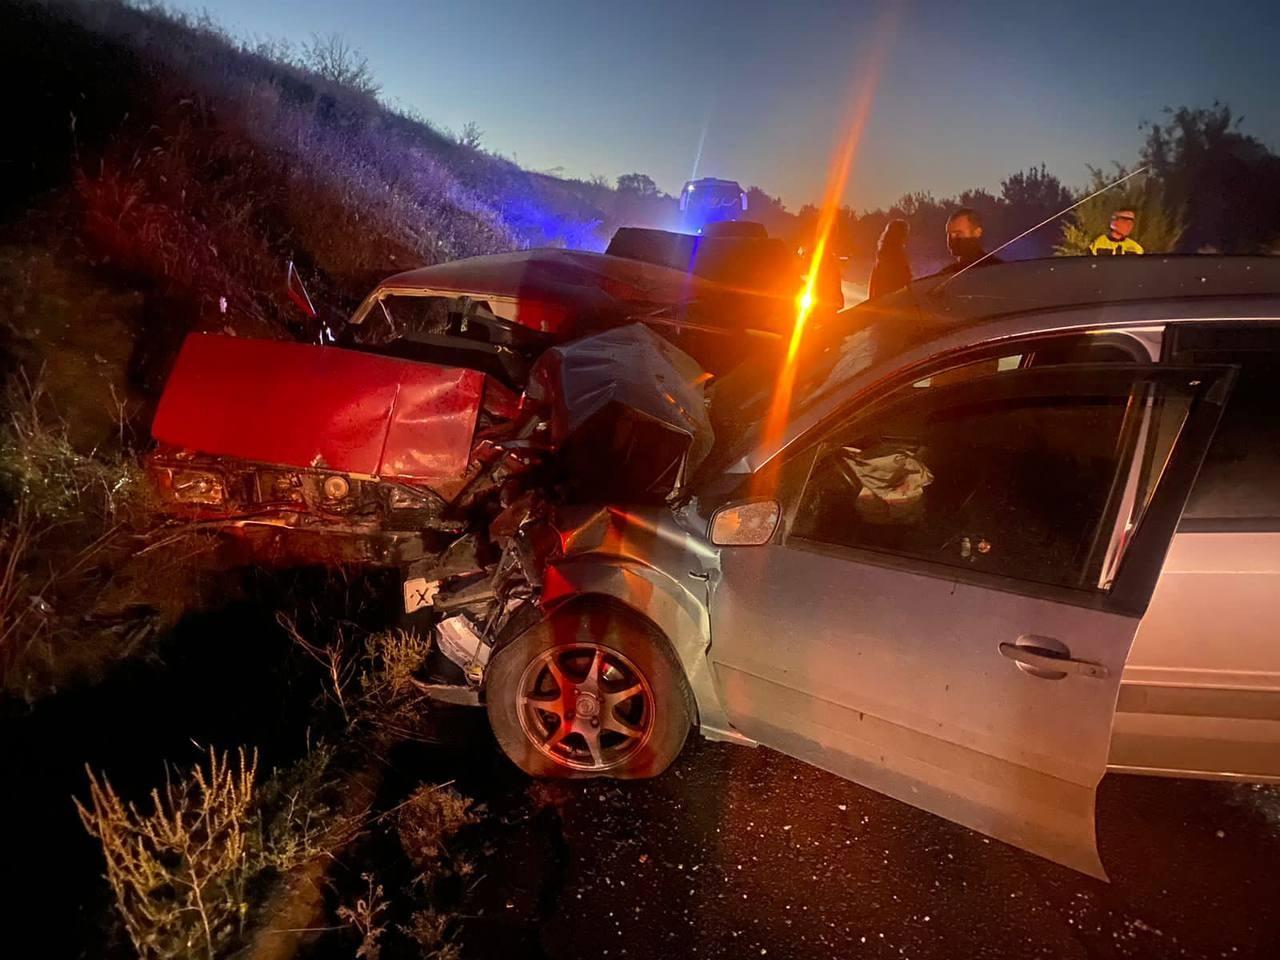
[[[1102,883],[764,749],[477,783],[466,956],[1280,957],[1276,787],[1107,777]]]

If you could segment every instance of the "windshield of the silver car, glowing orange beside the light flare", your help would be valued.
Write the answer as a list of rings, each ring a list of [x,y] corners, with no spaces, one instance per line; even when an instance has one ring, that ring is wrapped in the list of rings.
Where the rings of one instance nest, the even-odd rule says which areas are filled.
[[[801,343],[796,357],[788,420],[840,390],[855,376],[905,349],[915,324],[914,300],[904,293],[844,310]],[[762,351],[721,379],[712,390],[716,429],[713,462],[728,466],[760,438],[782,375],[786,344]]]

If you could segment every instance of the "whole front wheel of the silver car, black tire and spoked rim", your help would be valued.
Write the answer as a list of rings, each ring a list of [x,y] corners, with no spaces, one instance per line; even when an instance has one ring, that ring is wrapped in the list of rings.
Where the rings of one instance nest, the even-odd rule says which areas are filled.
[[[532,777],[657,777],[685,745],[694,700],[652,625],[607,603],[559,611],[499,649],[489,724]]]

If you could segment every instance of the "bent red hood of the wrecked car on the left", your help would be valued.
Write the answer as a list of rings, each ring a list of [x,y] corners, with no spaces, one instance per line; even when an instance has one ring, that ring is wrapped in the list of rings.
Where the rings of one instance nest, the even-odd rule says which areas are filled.
[[[239,460],[404,481],[466,472],[484,374],[282,340],[192,334],[156,440]]]

